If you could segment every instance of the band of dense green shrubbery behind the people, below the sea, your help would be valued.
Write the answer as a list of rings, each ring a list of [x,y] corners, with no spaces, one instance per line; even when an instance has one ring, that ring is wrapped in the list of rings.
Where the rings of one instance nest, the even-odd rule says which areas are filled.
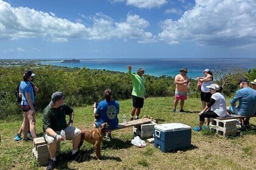
[[[66,103],[71,106],[85,106],[100,101],[105,89],[113,90],[116,100],[130,98],[132,82],[127,73],[112,72],[107,70],[90,70],[86,68],[68,68],[52,66],[30,66],[34,70],[34,84],[39,88],[35,97],[36,109],[44,109],[51,100],[51,94],[62,91],[66,96]],[[20,113],[20,107],[15,103],[15,91],[18,83],[22,80],[25,67],[0,67],[0,118],[10,114]],[[246,73],[246,77],[254,80],[256,69]],[[174,96],[174,78],[163,75],[154,77],[144,75],[146,93],[148,97],[171,97]],[[237,78],[233,78],[225,87],[226,95],[230,95],[238,88]],[[195,80],[191,80],[189,96],[199,98]]]

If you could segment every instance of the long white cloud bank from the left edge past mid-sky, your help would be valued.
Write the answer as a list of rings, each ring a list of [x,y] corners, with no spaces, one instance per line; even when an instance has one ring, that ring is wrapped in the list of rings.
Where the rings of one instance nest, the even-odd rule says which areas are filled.
[[[27,7],[12,7],[0,1],[0,39],[42,38],[52,42],[68,42],[68,39],[138,39],[138,42],[154,42],[155,38],[144,29],[149,22],[138,15],[128,13],[126,21],[116,22],[110,16],[96,13],[84,16],[92,24],[76,23],[57,18],[54,13],[38,12]]]

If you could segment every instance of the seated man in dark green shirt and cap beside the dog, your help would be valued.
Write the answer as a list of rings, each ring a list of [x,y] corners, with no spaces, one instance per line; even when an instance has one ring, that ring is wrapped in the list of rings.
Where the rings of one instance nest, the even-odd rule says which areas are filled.
[[[78,155],[77,149],[80,143],[81,131],[73,126],[74,110],[64,103],[65,97],[62,92],[54,92],[52,100],[43,110],[43,132],[44,140],[48,143],[48,151],[51,157],[47,169],[56,168],[57,141],[73,140],[73,151],[71,158]],[[69,122],[66,123],[66,115]],[[60,135],[61,131],[65,136]]]

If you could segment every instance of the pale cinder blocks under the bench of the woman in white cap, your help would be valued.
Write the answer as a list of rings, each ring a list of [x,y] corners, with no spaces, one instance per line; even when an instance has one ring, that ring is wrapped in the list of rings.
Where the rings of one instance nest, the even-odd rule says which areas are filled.
[[[236,119],[219,120],[218,118],[210,118],[210,129],[215,129],[217,134],[221,136],[236,135]]]

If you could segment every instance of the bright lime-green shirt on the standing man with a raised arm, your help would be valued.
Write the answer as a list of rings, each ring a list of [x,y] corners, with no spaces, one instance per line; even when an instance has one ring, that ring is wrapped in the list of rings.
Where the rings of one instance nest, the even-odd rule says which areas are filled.
[[[128,75],[132,78],[132,95],[143,98],[146,95],[144,77],[138,74],[132,74],[132,70],[130,69],[128,69]]]

